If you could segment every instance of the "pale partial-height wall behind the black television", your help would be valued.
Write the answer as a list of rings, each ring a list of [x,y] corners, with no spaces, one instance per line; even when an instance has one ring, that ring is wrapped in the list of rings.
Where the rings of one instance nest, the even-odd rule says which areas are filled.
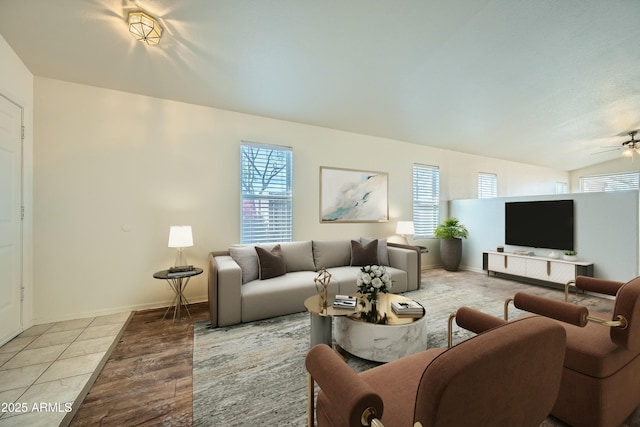
[[[505,251],[532,250],[547,256],[551,250],[504,244],[504,204],[511,201],[574,200],[575,249],[581,261],[594,263],[594,276],[628,281],[639,271],[639,193],[616,191],[496,199],[454,200],[451,211],[469,230],[463,241],[462,268],[482,269],[482,252],[505,246]],[[559,251],[555,251],[559,252]]]

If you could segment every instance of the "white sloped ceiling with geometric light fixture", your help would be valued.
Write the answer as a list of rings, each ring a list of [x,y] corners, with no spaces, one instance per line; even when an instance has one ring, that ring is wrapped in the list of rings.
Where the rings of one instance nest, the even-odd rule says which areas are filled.
[[[138,8],[157,47],[127,31]],[[0,0],[36,76],[564,170],[640,128],[639,18],[638,0]]]

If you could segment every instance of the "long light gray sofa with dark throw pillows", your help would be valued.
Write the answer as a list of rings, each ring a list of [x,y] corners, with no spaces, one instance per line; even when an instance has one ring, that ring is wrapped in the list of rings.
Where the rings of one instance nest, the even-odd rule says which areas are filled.
[[[359,239],[364,244],[373,239]],[[330,293],[357,292],[360,266],[352,266],[351,240],[306,240],[278,243],[284,274],[260,279],[262,265],[254,245],[232,245],[211,252],[208,258],[208,293],[211,326],[229,326],[304,311],[304,300],[317,293],[313,279],[323,267],[332,275]],[[257,245],[273,252],[276,244]],[[420,250],[414,246],[379,240],[377,263],[387,266],[399,293],[420,286]],[[261,255],[263,256],[263,255]],[[268,255],[269,256],[269,255]],[[359,254],[356,257],[361,260]]]

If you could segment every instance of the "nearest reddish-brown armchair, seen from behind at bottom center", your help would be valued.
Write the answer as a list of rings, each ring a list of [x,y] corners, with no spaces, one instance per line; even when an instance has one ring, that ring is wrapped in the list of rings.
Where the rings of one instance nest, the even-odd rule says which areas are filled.
[[[471,309],[458,314],[458,324],[477,320],[477,329],[492,329],[360,374],[330,347],[313,347],[306,358],[309,425],[315,412],[319,427],[538,427],[560,385],[563,328],[540,316],[505,322]]]

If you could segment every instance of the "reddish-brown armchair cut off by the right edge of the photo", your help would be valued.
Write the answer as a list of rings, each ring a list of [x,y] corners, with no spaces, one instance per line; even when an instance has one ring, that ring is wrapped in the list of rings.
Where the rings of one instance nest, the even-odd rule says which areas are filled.
[[[505,303],[505,318],[513,301],[559,320],[566,330],[562,382],[551,415],[575,427],[619,426],[640,405],[640,278],[622,283],[578,276],[569,284],[615,296],[613,313],[517,293]]]

